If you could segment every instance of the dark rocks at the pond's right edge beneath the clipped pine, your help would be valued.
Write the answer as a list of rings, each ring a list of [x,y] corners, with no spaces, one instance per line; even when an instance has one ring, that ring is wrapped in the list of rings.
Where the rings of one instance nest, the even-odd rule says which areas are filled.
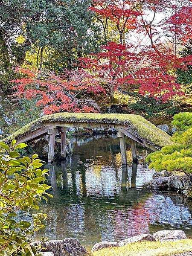
[[[192,175],[184,172],[155,172],[153,180],[148,185],[151,190],[177,191],[187,197],[192,197]]]

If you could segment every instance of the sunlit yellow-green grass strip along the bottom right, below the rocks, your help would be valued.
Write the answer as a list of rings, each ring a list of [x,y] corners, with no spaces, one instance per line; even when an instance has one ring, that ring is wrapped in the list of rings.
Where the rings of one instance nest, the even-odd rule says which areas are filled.
[[[111,247],[89,253],[87,256],[170,256],[192,251],[192,239],[164,242],[137,242],[123,247]]]

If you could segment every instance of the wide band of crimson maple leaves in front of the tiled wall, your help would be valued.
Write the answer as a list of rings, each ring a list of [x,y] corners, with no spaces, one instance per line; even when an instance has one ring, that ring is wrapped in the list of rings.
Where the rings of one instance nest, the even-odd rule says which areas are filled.
[[[91,55],[95,58],[81,58],[80,65],[107,82],[109,90],[116,90],[122,84],[127,87],[136,84],[142,95],[148,94],[163,102],[183,95],[174,70],[192,64],[192,55],[177,58],[163,45],[156,45],[158,52],[145,47],[142,52],[133,53],[129,51],[131,47],[109,42],[102,47],[102,52]],[[130,70],[134,72],[130,74]]]

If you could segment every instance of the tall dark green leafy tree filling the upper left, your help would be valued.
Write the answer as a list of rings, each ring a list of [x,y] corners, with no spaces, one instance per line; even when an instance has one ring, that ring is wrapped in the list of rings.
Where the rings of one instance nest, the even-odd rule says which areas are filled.
[[[92,26],[93,14],[88,11],[89,6],[90,0],[0,1],[1,54],[6,47],[7,63],[21,65],[26,51],[35,45],[39,69],[49,49],[54,58],[57,54],[60,58],[64,55],[64,64],[72,67],[74,58],[81,57],[87,48],[98,47],[99,41],[94,36],[99,33]],[[18,44],[16,38],[21,35],[24,40]]]

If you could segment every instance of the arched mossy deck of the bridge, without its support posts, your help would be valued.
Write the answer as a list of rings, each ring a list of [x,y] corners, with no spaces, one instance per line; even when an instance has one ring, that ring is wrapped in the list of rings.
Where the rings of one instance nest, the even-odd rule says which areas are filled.
[[[124,131],[126,136],[132,136],[132,139],[137,142],[157,149],[173,144],[168,134],[142,116],[100,113],[55,113],[43,116],[25,125],[3,141],[10,143],[12,139],[16,139],[18,142],[31,142],[46,135],[49,129],[67,126],[117,128],[119,131]]]

